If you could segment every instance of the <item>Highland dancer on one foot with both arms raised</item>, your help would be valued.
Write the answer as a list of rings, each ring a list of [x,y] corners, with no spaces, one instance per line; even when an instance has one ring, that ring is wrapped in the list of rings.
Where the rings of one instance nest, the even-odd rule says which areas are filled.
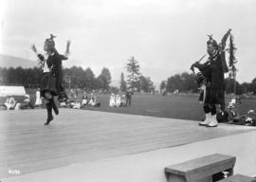
[[[44,50],[45,55],[37,52],[36,46],[31,45],[31,49],[36,53],[43,69],[43,77],[41,81],[41,97],[46,103],[47,119],[45,125],[53,120],[52,109],[56,115],[59,115],[58,96],[64,91],[62,86],[62,61],[68,59],[70,41],[67,41],[65,55],[61,55],[55,49],[55,36],[50,35],[46,39]]]

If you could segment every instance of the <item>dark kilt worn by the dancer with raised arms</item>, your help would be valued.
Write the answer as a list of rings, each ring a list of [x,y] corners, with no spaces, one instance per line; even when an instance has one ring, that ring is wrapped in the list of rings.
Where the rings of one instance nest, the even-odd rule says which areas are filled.
[[[40,92],[41,96],[44,98],[46,92],[50,92],[53,96],[57,95],[56,77],[54,77],[51,72],[46,72],[43,74]]]

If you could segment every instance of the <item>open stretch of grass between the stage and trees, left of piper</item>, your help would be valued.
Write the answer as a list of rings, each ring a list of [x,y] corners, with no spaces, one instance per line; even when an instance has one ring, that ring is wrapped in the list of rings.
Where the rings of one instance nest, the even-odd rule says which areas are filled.
[[[202,118],[201,106],[195,97],[176,95],[162,97],[137,94],[133,96],[132,105],[128,107],[110,107],[108,106],[109,96],[99,95],[99,98],[101,107],[87,106],[85,109],[161,118]]]

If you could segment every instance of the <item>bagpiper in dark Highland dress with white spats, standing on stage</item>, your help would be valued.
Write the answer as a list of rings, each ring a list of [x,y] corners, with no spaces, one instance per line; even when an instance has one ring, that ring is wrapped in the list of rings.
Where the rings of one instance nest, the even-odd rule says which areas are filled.
[[[218,121],[216,119],[216,105],[219,104],[221,110],[225,109],[225,81],[224,74],[229,71],[225,60],[225,46],[231,29],[222,38],[221,44],[218,45],[215,40],[209,36],[207,42],[207,52],[209,54],[208,61],[205,64],[196,62],[192,64],[200,70],[202,86],[204,88],[204,112],[206,119],[199,123],[201,126],[216,127]]]

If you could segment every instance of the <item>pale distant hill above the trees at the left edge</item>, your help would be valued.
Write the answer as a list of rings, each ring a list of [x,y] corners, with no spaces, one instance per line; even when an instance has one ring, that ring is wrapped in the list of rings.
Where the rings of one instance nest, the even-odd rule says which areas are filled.
[[[15,68],[19,66],[23,68],[32,68],[34,66],[38,66],[38,64],[34,61],[27,60],[24,58],[0,54],[0,67]]]

